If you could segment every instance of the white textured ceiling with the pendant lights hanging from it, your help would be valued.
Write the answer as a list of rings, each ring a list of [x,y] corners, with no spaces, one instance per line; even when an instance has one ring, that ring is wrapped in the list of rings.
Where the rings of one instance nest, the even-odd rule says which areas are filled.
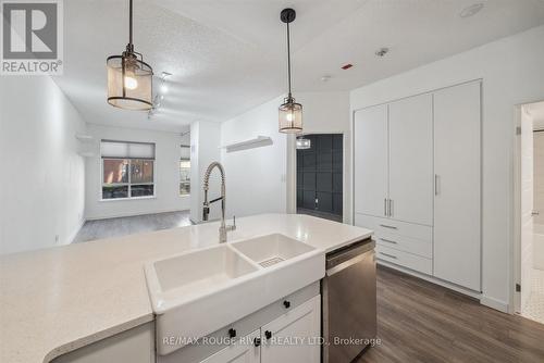
[[[106,102],[106,58],[127,42],[127,0],[64,1],[64,75],[55,82],[89,123],[182,130],[222,122],[285,91],[285,27],[293,25],[294,90],[349,90],[544,24],[544,0],[136,0],[136,50],[170,72],[163,108]],[[383,59],[374,52],[391,48]],[[339,67],[355,66],[349,71]],[[321,82],[322,76],[329,82]],[[296,96],[296,95],[295,95]]]

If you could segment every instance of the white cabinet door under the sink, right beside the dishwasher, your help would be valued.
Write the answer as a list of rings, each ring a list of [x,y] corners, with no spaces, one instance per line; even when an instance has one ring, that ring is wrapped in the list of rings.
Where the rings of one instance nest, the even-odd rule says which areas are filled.
[[[321,361],[321,296],[261,327],[261,363]]]

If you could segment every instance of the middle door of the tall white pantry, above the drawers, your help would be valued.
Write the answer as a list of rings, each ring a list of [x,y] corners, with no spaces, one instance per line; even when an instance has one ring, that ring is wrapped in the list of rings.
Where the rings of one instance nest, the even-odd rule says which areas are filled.
[[[433,224],[433,103],[431,95],[390,104],[390,216]]]

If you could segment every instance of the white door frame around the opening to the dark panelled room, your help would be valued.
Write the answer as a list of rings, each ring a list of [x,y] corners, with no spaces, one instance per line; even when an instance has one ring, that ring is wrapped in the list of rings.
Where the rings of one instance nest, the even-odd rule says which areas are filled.
[[[297,135],[287,136],[287,213],[297,214],[297,143],[298,136],[307,135],[342,135],[342,221],[343,223],[350,224],[348,210],[350,201],[348,200],[347,190],[349,190],[349,179],[346,166],[349,165],[349,149],[350,145],[349,134],[345,130],[331,130],[331,132],[308,132]]]

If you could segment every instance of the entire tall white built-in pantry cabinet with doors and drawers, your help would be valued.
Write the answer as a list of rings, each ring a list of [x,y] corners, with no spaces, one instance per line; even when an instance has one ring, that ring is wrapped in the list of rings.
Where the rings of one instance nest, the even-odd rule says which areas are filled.
[[[481,290],[481,82],[355,112],[354,211],[379,260]]]

